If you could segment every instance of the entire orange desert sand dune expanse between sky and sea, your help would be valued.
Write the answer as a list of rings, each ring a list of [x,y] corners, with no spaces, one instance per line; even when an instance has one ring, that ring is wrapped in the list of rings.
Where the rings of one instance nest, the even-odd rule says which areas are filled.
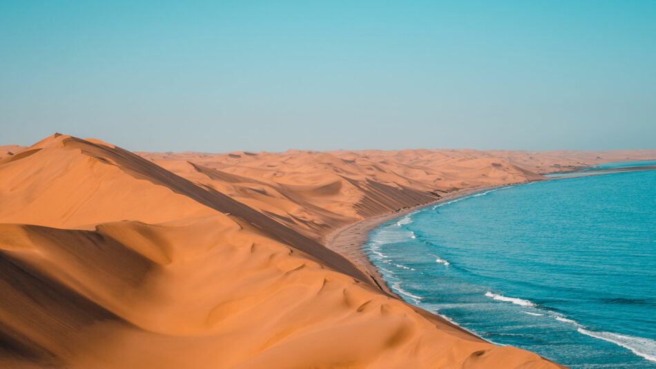
[[[325,245],[462,189],[654,158],[1,146],[0,367],[559,368],[400,301]]]

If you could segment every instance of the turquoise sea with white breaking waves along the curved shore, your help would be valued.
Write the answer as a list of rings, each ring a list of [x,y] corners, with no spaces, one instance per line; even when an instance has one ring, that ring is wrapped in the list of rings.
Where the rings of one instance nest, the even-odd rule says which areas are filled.
[[[517,185],[374,229],[396,293],[572,368],[656,368],[656,171]]]

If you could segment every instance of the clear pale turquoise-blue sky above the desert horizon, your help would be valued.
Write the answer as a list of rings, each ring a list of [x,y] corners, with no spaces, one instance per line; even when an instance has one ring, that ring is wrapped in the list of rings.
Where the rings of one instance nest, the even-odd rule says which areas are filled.
[[[656,148],[656,1],[0,0],[0,144]]]

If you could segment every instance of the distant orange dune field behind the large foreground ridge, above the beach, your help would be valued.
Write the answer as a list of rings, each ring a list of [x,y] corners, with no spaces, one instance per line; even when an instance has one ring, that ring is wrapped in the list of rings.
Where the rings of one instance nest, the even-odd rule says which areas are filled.
[[[444,159],[423,151],[413,160],[394,152],[143,155],[316,240],[340,226],[425,204],[454,189],[541,178],[512,164],[493,167],[489,160]],[[442,160],[456,164],[436,168]]]

